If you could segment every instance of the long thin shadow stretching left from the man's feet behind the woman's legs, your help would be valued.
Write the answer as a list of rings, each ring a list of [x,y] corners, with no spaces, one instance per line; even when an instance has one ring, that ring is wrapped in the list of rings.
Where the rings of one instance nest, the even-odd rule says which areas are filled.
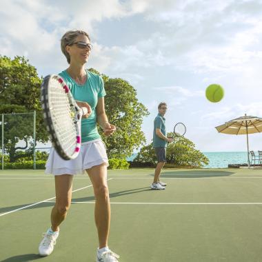
[[[114,198],[114,197],[118,197],[118,196],[123,196],[126,194],[136,194],[136,193],[140,193],[140,192],[144,192],[144,191],[151,191],[151,189],[148,187],[146,188],[135,188],[135,189],[130,189],[130,190],[123,190],[123,191],[119,191],[119,192],[113,192],[110,195],[110,199]],[[94,196],[86,196],[86,197],[81,197],[81,198],[77,198],[77,199],[72,199],[72,202],[86,202],[86,201],[94,201]],[[33,203],[28,203],[28,204],[24,204],[24,205],[13,205],[13,206],[9,206],[9,207],[5,207],[5,208],[0,208],[0,214],[1,213],[5,213],[5,212],[9,212],[12,210],[16,210],[19,208],[23,208],[26,205],[32,205]],[[73,205],[74,203],[72,203]],[[28,210],[28,209],[34,209],[34,208],[49,208],[49,207],[53,207],[54,206],[54,202],[43,202],[43,203],[39,203],[37,205],[32,205],[31,207],[28,208],[24,208],[23,210]]]

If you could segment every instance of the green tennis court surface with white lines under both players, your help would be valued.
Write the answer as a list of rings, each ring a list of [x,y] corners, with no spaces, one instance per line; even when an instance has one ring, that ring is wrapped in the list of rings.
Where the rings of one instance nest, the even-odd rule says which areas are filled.
[[[262,261],[262,170],[109,170],[110,248],[121,262]],[[94,196],[74,178],[72,205],[54,252],[38,256],[50,226],[54,179],[43,170],[0,171],[0,261],[95,261]]]

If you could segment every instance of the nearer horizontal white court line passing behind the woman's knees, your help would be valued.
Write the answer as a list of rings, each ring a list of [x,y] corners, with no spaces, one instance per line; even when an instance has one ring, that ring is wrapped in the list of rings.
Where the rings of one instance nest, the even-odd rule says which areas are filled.
[[[46,201],[54,202],[54,201]],[[87,203],[94,204],[95,202],[91,201],[72,201],[71,203]],[[242,203],[170,203],[170,202],[110,202],[110,204],[120,204],[120,205],[262,205],[260,202],[242,202]]]

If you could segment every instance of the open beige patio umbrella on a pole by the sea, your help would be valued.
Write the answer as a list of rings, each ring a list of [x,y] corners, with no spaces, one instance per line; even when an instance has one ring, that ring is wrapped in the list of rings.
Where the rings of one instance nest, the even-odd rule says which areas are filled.
[[[250,117],[245,114],[245,117],[232,119],[223,125],[216,126],[216,130],[224,134],[246,134],[248,144],[248,134],[262,132],[262,118]],[[248,167],[250,166],[249,151],[248,145]]]

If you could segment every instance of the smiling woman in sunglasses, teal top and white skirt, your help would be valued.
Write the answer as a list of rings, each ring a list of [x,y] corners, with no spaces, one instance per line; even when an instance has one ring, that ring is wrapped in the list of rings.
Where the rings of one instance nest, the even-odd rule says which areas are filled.
[[[85,114],[81,121],[81,152],[76,159],[66,161],[59,157],[54,148],[50,151],[46,173],[54,174],[56,203],[51,212],[51,228],[44,234],[39,245],[39,254],[48,256],[52,253],[59,236],[59,225],[66,219],[70,208],[72,179],[75,174],[83,174],[86,170],[96,199],[94,217],[99,238],[97,261],[117,262],[119,256],[108,248],[110,229],[108,157],[97,130],[97,123],[105,135],[112,134],[116,128],[108,122],[105,114],[103,79],[98,74],[85,70],[91,49],[90,37],[86,32],[71,30],[61,39],[61,50],[69,67],[59,75],[66,81],[77,104],[88,108],[88,114]]]

